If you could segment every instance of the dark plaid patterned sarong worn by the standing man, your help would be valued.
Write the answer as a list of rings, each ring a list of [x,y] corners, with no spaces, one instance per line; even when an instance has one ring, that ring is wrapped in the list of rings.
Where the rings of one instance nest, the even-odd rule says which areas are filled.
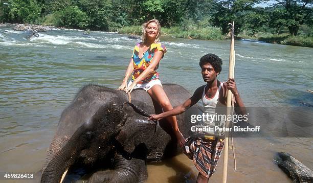
[[[195,167],[203,176],[211,177],[225,141],[220,139],[204,141],[202,138],[188,138],[186,141],[184,153],[193,160]]]

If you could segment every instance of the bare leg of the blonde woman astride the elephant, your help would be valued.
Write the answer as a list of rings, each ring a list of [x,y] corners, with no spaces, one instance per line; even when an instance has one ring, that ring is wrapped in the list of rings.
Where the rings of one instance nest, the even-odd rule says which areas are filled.
[[[165,91],[163,90],[162,86],[160,85],[154,85],[151,89],[149,89],[148,94],[158,103],[160,103],[161,107],[163,108],[163,111],[168,111],[173,109],[167,95],[165,94]],[[177,120],[175,116],[167,117],[167,121],[171,123],[171,126],[174,129],[177,143],[183,146],[185,144],[185,139],[180,130],[178,129]]]

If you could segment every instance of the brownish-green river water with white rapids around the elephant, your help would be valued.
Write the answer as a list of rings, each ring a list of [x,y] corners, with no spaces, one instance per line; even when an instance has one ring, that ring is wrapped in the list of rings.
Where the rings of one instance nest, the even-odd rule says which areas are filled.
[[[37,178],[62,110],[86,84],[118,88],[133,46],[126,35],[54,30],[29,32],[0,27],[0,172],[33,172]],[[205,84],[198,61],[206,53],[223,60],[228,76],[230,41],[162,37],[168,52],[160,62],[163,83],[190,93]],[[313,49],[235,41],[235,79],[246,106],[313,106]],[[273,161],[288,152],[313,169],[312,138],[236,138],[237,170],[229,151],[229,182],[291,182]],[[211,182],[221,181],[222,158]],[[148,165],[146,182],[194,182],[197,171],[184,154]],[[12,181],[10,181],[12,182]],[[20,182],[20,181],[16,181]]]

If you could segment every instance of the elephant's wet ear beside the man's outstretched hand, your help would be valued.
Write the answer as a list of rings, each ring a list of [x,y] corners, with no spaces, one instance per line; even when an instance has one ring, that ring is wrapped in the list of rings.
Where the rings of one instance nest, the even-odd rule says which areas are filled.
[[[149,142],[155,133],[156,122],[149,121],[141,112],[143,110],[133,104],[124,103],[123,111],[126,114],[126,121],[116,136],[116,140],[129,153],[142,143],[149,149]]]

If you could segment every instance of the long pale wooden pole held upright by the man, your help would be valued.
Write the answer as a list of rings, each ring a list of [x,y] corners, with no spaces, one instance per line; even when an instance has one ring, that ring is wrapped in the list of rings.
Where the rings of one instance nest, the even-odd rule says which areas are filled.
[[[234,47],[235,47],[235,39],[234,39],[234,22],[230,24],[232,26],[231,32],[232,32],[232,39],[231,39],[231,47],[230,47],[230,53],[229,53],[229,74],[228,78],[234,78],[235,74],[235,54],[234,54]],[[231,115],[231,105],[232,105],[232,91],[227,91],[227,117]],[[228,118],[227,118],[228,119]],[[226,128],[229,128],[230,121],[226,121]],[[222,182],[227,182],[227,166],[228,166],[228,140],[229,140],[229,132],[226,131],[225,133],[225,148],[224,148],[224,159],[223,159],[223,173],[222,173]]]

